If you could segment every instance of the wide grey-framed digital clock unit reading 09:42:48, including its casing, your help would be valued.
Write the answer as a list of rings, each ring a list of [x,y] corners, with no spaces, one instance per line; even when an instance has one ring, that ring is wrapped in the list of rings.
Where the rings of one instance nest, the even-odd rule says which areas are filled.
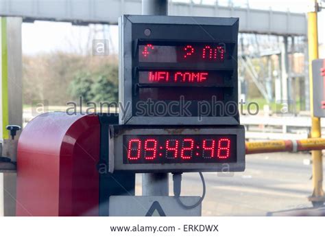
[[[111,125],[109,171],[241,172],[243,126]]]

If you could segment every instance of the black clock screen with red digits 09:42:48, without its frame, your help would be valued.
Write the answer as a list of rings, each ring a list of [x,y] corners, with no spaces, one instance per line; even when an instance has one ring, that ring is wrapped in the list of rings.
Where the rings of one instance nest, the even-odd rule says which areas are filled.
[[[123,163],[230,163],[237,135],[123,135]]]

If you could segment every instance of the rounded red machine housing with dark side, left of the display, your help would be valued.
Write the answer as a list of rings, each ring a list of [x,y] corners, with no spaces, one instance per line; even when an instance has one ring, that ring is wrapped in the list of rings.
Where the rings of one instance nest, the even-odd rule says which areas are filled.
[[[132,193],[134,174],[106,172],[109,122],[55,112],[27,124],[18,144],[16,216],[108,216],[110,195]]]

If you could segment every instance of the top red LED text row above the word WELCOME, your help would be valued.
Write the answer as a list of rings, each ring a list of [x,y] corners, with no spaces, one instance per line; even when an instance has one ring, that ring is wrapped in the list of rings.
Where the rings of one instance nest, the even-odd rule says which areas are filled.
[[[225,58],[226,47],[219,43],[139,45],[139,62],[224,62]]]

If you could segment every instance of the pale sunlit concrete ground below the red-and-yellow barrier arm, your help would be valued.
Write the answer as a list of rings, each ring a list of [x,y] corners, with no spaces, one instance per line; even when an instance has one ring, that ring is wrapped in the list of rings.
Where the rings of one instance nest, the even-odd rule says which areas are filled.
[[[265,216],[268,212],[311,207],[309,153],[248,155],[245,172],[204,173],[206,198],[202,216]],[[169,180],[172,195],[172,179]],[[198,173],[183,174],[182,196],[202,194]],[[141,195],[141,176],[136,179]]]

